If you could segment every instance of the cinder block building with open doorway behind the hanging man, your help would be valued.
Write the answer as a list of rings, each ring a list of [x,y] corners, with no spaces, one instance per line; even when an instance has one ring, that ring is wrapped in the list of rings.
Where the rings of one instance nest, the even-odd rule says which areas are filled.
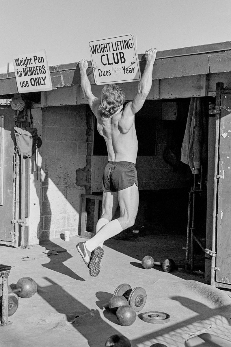
[[[139,61],[142,71],[145,66],[142,54]],[[180,232],[184,229],[187,234],[188,253],[190,238],[192,246],[195,242],[204,249],[207,281],[228,288],[231,263],[224,260],[231,244],[228,222],[231,204],[227,193],[231,167],[227,141],[230,62],[231,42],[158,52],[151,91],[135,116],[140,191],[135,227],[141,228],[145,223],[151,226],[157,217],[165,219],[165,223],[168,220],[167,228],[175,223]],[[22,182],[22,164],[15,154],[14,143],[16,113],[10,105],[0,104],[1,244],[28,247],[40,240],[59,237],[64,230],[70,230],[71,236],[91,237],[99,217],[107,152],[81,90],[78,63],[51,66],[50,74],[52,91],[25,94],[18,93],[14,73],[0,75],[0,98],[30,102],[33,127],[42,139],[37,170],[34,156],[26,159]],[[95,84],[90,62],[88,74],[92,92],[99,96],[102,86]],[[137,82],[120,85],[126,102],[133,99],[137,85]],[[203,99],[207,121],[206,138],[202,140],[207,141],[206,162],[202,165],[203,173],[201,170],[197,176],[180,162],[191,98]],[[29,122],[29,113],[27,116],[24,122]],[[195,182],[194,177],[201,181]],[[196,190],[200,198],[193,212],[197,221],[194,235],[196,227],[190,225],[194,203],[190,207],[188,195],[191,191],[191,197],[197,196]],[[175,232],[172,230],[169,232]],[[186,254],[186,260],[192,265],[192,254],[191,257]],[[222,262],[225,265],[218,270]]]

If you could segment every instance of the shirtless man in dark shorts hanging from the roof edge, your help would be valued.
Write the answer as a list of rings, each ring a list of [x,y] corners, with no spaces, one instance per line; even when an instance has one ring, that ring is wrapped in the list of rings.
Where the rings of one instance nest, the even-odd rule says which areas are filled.
[[[97,130],[107,145],[108,163],[103,175],[103,209],[96,225],[96,235],[77,244],[77,250],[89,268],[90,276],[97,276],[104,255],[103,243],[135,223],[139,204],[139,191],[135,162],[137,137],[135,113],[143,106],[152,86],[152,70],[156,49],[145,52],[146,65],[133,101],[123,109],[125,95],[115,84],[105,85],[100,99],[91,92],[87,77],[88,62],[79,62],[81,87],[97,119]],[[120,217],[112,220],[119,204]]]

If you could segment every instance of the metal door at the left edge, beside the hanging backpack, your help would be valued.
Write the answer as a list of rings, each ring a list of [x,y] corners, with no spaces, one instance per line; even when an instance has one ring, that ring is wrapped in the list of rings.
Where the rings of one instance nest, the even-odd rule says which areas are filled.
[[[0,244],[14,245],[14,111],[0,108]]]

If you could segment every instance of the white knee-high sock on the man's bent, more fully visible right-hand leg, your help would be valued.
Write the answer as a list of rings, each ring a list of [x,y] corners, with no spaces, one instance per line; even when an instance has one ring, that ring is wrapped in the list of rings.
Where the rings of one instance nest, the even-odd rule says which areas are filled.
[[[113,237],[119,232],[121,232],[123,228],[121,227],[118,219],[114,219],[111,222],[107,223],[104,227],[102,227],[95,236],[91,239],[87,240],[85,245],[87,249],[92,252],[96,247],[99,246],[101,242]]]

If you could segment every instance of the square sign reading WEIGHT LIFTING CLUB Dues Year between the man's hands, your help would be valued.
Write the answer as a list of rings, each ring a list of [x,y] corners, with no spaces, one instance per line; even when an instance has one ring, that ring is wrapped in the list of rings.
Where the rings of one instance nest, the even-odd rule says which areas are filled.
[[[140,81],[140,65],[132,34],[89,42],[95,83]]]

